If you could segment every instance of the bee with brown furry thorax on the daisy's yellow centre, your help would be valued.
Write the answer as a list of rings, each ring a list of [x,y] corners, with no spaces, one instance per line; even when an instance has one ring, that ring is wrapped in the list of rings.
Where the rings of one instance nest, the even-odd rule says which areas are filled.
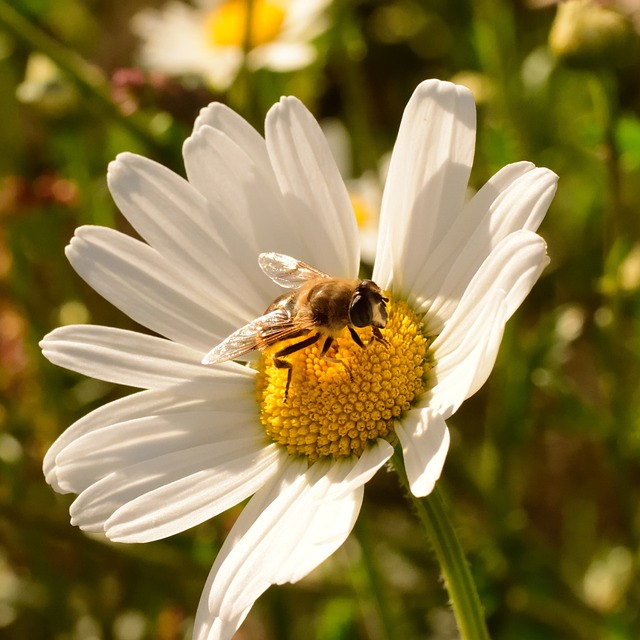
[[[273,364],[278,369],[287,369],[286,402],[293,365],[285,358],[292,353],[323,339],[320,356],[340,362],[351,376],[351,370],[344,362],[327,356],[329,347],[345,327],[353,341],[363,349],[365,344],[356,328],[371,327],[372,341],[389,344],[380,331],[387,324],[389,299],[372,280],[332,278],[281,253],[261,253],[258,263],[276,284],[291,291],[278,296],[262,316],[241,327],[209,351],[202,359],[202,364],[235,360],[251,351],[263,351],[283,340],[303,338],[273,354]]]

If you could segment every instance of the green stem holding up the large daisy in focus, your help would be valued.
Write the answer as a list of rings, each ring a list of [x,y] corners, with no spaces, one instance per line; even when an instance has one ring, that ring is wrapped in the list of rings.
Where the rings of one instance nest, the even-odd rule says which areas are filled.
[[[489,640],[480,597],[442,495],[436,487],[426,498],[416,498],[409,488],[402,453],[396,450],[392,461],[440,563],[460,637],[462,640]]]

